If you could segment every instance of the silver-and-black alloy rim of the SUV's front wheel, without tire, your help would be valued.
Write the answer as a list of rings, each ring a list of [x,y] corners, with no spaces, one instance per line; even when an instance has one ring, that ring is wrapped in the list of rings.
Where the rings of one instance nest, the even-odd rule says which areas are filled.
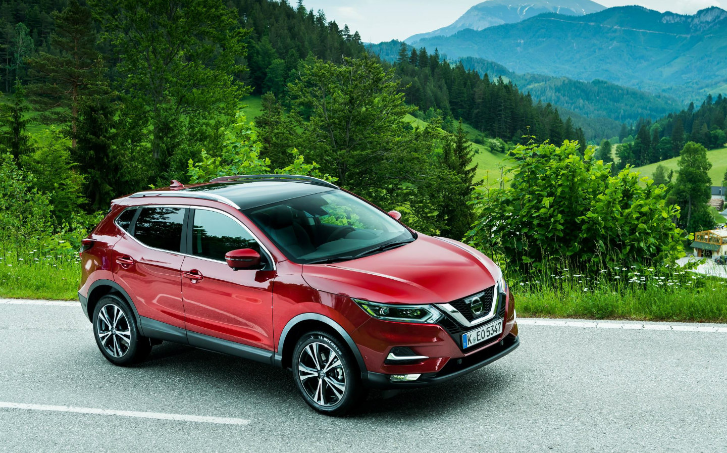
[[[305,393],[324,407],[335,406],[346,390],[346,374],[338,354],[322,342],[310,343],[298,358],[298,378]]]

